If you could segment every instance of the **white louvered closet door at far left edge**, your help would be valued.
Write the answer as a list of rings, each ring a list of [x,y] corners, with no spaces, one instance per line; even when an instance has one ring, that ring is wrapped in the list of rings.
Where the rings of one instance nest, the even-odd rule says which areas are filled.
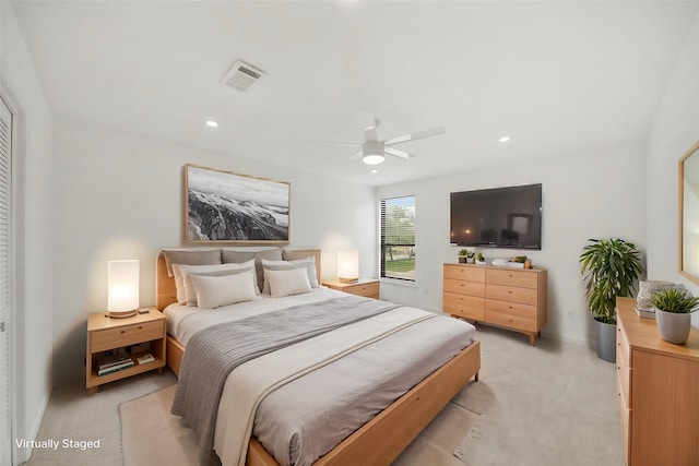
[[[0,98],[0,466],[12,464],[10,214],[12,113]]]

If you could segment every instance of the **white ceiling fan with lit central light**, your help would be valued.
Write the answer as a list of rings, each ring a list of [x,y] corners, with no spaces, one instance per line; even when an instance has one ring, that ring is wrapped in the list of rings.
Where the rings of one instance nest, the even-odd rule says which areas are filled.
[[[372,118],[372,122],[364,129],[364,142],[360,142],[360,143],[359,142],[340,142],[340,141],[311,141],[311,142],[362,147],[359,152],[352,155],[351,157],[347,157],[344,162],[351,162],[362,157],[362,160],[365,164],[378,165],[384,160],[386,155],[393,155],[404,160],[407,160],[414,157],[413,154],[410,154],[404,151],[399,151],[398,148],[393,148],[392,146],[396,144],[402,144],[404,142],[415,141],[415,140],[429,138],[429,136],[436,136],[445,133],[445,129],[442,127],[438,127],[438,128],[431,128],[428,130],[403,134],[400,136],[381,141],[379,140],[379,136],[377,133],[377,128],[379,127],[380,122],[381,121],[378,118]]]

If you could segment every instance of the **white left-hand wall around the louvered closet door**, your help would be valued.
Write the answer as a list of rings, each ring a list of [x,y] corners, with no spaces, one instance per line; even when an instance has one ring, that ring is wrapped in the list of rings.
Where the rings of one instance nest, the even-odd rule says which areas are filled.
[[[0,93],[15,113],[12,323],[15,439],[34,439],[51,393],[51,112],[10,2],[0,2]],[[16,449],[13,442],[13,447]],[[15,450],[15,462],[31,452]]]

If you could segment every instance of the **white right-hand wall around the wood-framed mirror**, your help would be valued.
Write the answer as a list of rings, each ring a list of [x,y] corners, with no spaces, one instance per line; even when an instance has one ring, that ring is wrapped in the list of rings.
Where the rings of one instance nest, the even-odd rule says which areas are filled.
[[[699,295],[678,273],[677,160],[699,140],[699,15],[690,31],[648,138],[648,276]],[[699,328],[699,312],[692,323]]]

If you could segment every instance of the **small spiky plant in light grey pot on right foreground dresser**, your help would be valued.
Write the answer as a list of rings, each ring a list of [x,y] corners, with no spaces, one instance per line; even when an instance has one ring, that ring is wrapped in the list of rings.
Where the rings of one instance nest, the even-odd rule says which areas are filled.
[[[664,340],[684,345],[689,338],[691,313],[699,306],[699,298],[690,296],[687,290],[667,288],[653,296],[655,322]]]

